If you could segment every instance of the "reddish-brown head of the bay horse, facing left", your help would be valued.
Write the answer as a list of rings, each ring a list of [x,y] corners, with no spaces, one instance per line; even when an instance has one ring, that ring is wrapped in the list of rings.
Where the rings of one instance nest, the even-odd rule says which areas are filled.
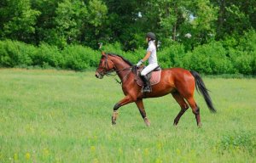
[[[109,59],[108,53],[102,52],[102,59],[100,60],[100,64],[96,70],[96,77],[102,79],[103,76],[109,74],[114,69],[113,62]]]

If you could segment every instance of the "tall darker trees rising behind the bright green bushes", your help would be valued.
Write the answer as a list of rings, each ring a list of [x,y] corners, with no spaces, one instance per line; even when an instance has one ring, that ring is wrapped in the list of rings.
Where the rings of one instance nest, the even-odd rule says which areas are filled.
[[[64,48],[98,42],[143,47],[154,31],[163,48],[180,42],[186,51],[239,39],[256,28],[255,0],[1,0],[0,39]]]

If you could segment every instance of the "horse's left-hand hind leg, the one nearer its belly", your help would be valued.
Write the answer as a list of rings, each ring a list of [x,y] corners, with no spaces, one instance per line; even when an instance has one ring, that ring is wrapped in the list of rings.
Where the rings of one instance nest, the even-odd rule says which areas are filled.
[[[181,95],[177,92],[172,93],[172,97],[175,98],[175,100],[177,101],[177,103],[180,105],[181,110],[179,111],[179,113],[177,114],[176,118],[174,119],[173,125],[177,126],[177,123],[180,119],[180,117],[185,113],[186,110],[189,109],[189,105],[185,102],[184,98],[181,97]]]

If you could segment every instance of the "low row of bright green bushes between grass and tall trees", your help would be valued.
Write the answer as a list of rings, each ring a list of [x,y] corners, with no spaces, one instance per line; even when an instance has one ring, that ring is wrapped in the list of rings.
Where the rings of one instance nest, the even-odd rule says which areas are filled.
[[[106,52],[121,54],[136,64],[145,53],[143,48],[125,52],[120,43],[108,44]],[[186,52],[181,43],[159,49],[159,63],[163,68],[183,67],[203,74],[256,75],[256,32],[250,31],[239,40],[212,41]],[[60,49],[46,43],[38,47],[17,41],[0,41],[0,66],[29,68],[57,68],[67,70],[95,69],[101,52],[81,45],[67,45]]]

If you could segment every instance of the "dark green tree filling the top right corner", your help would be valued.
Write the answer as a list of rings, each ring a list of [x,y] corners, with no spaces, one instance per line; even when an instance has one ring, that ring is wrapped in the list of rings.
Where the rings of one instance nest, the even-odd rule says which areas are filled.
[[[234,36],[239,39],[244,31],[256,28],[255,0],[211,0],[219,8],[217,39]]]

